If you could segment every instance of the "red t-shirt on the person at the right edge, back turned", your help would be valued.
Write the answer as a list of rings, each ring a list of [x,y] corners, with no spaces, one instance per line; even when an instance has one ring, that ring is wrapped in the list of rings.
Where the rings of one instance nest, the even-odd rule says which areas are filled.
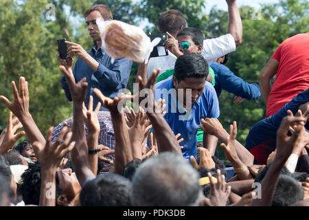
[[[271,58],[279,61],[277,76],[268,96],[266,118],[277,113],[309,87],[309,32],[286,39]]]

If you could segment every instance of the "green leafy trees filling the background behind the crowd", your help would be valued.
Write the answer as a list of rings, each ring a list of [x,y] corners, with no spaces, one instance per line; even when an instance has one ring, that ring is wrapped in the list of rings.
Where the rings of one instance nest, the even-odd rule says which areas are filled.
[[[24,76],[30,87],[30,112],[43,134],[72,115],[72,105],[61,89],[62,74],[56,60],[56,39],[66,38],[89,50],[92,41],[84,24],[83,12],[95,1],[82,0],[1,0],[0,4],[0,94],[12,100],[11,81]],[[49,19],[46,6],[55,5],[55,17]],[[159,32],[157,19],[164,10],[178,9],[188,25],[206,36],[227,32],[227,12],[211,9],[204,13],[202,0],[106,0],[114,19],[139,25],[148,21],[145,32]],[[306,0],[281,0],[262,5],[262,19],[254,20],[254,9],[240,8],[243,25],[242,45],[229,54],[227,67],[249,83],[258,83],[258,74],[285,39],[309,30],[309,3]],[[137,63],[134,63],[128,89],[133,88]],[[17,83],[18,84],[18,83]],[[244,144],[249,129],[264,118],[262,98],[233,104],[233,95],[220,96],[220,121],[225,129],[236,120],[238,140]],[[6,126],[8,109],[0,102],[0,127]]]

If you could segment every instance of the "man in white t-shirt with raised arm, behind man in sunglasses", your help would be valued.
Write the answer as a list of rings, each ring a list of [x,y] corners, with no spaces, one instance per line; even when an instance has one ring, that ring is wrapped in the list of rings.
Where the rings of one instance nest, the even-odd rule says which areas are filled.
[[[236,47],[242,42],[242,20],[238,11],[236,0],[226,0],[229,12],[229,24],[227,34],[220,36],[216,39],[206,39],[202,50],[202,56],[208,64],[214,59],[219,58],[225,54],[229,54],[236,50]],[[187,28],[187,21],[179,10],[167,10],[159,17],[159,30],[161,33],[168,32],[176,38],[177,33]],[[165,48],[169,45],[165,44]],[[185,45],[184,45],[185,47]],[[211,48],[211,49],[209,49]],[[152,70],[161,68],[162,74],[167,69],[173,69],[177,56],[169,52],[168,56],[158,56],[150,58],[147,67],[147,78],[152,73]]]

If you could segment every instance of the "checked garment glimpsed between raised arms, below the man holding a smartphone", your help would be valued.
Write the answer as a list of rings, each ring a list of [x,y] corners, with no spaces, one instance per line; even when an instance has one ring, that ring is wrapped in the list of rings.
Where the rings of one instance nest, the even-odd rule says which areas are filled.
[[[65,123],[68,126],[71,124],[71,118],[67,118],[66,120],[58,124],[58,126],[56,126],[56,128],[54,129],[54,132],[52,133],[52,144],[56,142],[58,136],[60,135],[62,128],[65,126]],[[115,136],[114,136],[113,122],[111,120],[111,113],[109,111],[99,111],[98,120],[100,122],[100,134],[99,134],[98,144],[103,144],[104,146],[111,148],[111,150],[114,150],[115,149]],[[84,125],[85,125],[85,135],[88,140],[88,128],[86,124]],[[112,159],[114,161],[115,155],[108,155],[106,156],[106,158]],[[105,162],[101,162],[101,163],[102,163],[103,168],[100,171],[108,172],[111,169],[111,164],[106,164]]]

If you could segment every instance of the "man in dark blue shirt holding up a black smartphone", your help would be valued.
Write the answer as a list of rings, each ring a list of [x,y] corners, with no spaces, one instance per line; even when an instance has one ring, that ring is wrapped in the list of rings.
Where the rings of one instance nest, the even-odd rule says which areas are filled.
[[[93,40],[93,47],[91,50],[86,51],[78,43],[65,41],[69,46],[67,50],[67,59],[61,59],[59,54],[57,54],[57,56],[58,61],[62,65],[67,65],[69,67],[73,65],[73,57],[78,57],[78,61],[76,61],[73,69],[73,75],[76,82],[84,77],[87,78],[88,88],[85,105],[88,107],[89,96],[93,96],[93,108],[95,108],[100,100],[93,93],[93,89],[100,89],[104,96],[110,98],[117,96],[119,89],[126,88],[133,62],[126,58],[118,58],[111,63],[111,56],[108,56],[101,47],[102,40],[100,31],[95,20],[98,18],[104,21],[113,19],[113,15],[108,6],[93,5],[84,12],[84,17],[86,18],[89,35]],[[61,78],[61,85],[62,89],[65,89],[65,96],[71,101],[72,98],[69,86],[64,77]],[[100,111],[107,111],[107,109],[102,105]]]

